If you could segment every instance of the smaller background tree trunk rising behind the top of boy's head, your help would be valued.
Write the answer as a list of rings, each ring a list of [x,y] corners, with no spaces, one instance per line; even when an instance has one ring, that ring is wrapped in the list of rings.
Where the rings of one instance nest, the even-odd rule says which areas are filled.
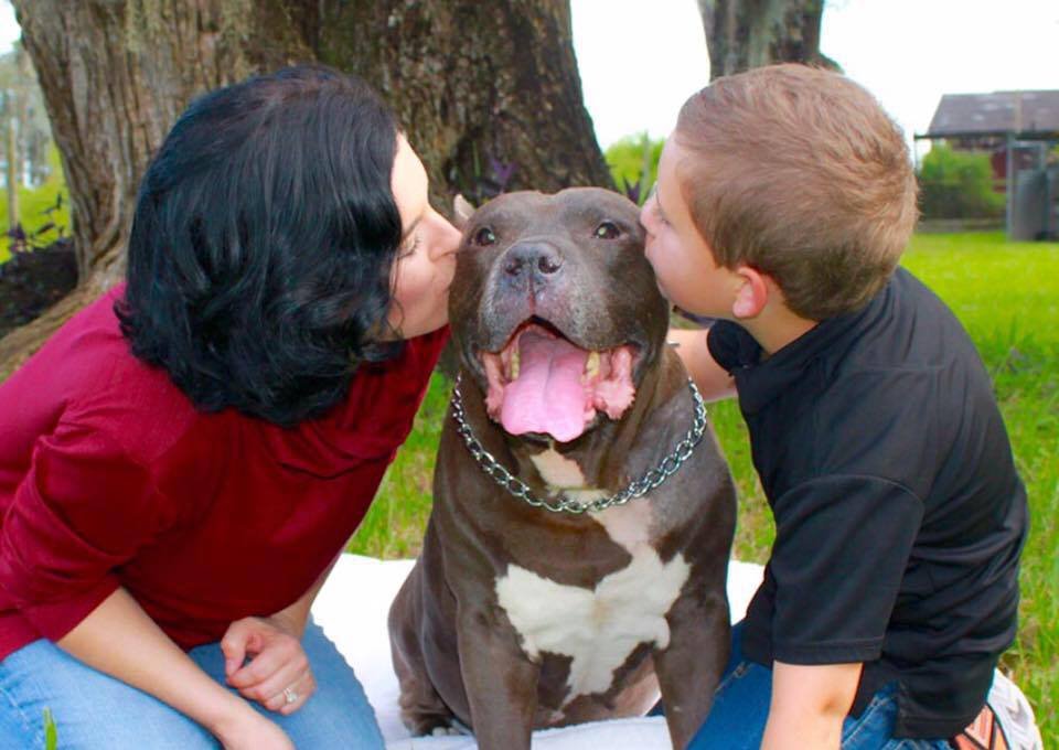
[[[698,0],[709,77],[772,63],[806,63],[839,69],[820,52],[824,0]]]

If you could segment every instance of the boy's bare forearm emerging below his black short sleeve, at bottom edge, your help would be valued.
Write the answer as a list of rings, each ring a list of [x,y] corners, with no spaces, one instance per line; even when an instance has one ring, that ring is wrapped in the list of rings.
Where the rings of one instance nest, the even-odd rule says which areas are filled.
[[[860,663],[772,663],[772,703],[761,750],[838,750]]]

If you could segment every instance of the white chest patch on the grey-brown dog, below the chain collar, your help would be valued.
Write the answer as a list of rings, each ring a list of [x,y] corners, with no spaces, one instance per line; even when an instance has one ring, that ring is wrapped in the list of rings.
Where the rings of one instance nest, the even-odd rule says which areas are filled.
[[[592,517],[632,561],[595,589],[556,583],[516,565],[496,579],[496,598],[530,658],[542,652],[571,657],[564,705],[607,690],[613,672],[641,643],[670,643],[666,613],[687,580],[683,555],[666,564],[649,544],[651,510],[643,499]]]

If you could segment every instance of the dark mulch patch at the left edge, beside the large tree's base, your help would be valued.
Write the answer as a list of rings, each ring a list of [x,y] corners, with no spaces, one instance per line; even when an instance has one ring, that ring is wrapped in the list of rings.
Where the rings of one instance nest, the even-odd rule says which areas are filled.
[[[29,323],[77,283],[77,259],[69,238],[0,264],[0,338]]]

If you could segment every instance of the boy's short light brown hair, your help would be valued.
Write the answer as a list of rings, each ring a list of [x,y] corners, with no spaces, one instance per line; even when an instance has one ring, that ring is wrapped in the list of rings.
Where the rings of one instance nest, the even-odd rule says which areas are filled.
[[[718,265],[771,276],[795,314],[856,310],[886,283],[916,224],[897,125],[845,76],[773,65],[681,109],[684,199]]]

